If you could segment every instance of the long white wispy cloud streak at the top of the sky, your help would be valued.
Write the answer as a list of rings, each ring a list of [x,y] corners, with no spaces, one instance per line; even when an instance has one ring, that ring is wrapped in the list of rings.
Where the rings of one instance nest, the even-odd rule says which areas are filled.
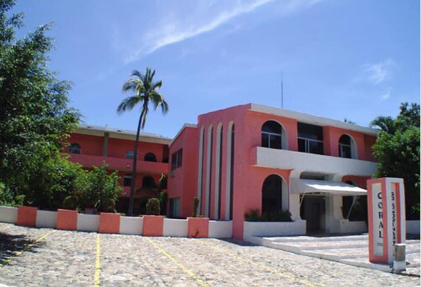
[[[312,6],[321,0],[238,0],[227,1],[197,1],[188,7],[177,7],[173,10],[162,11],[164,17],[157,17],[151,27],[132,31],[113,31],[113,47],[124,54],[124,63],[130,63],[145,55],[170,44],[182,42],[206,32],[221,27],[232,19],[252,13],[260,7],[272,2],[278,2],[283,14],[296,11],[298,8]],[[190,7],[191,6],[191,7]],[[173,7],[174,8],[174,7]],[[161,17],[161,18],[160,18]],[[126,27],[137,27],[126,25]],[[130,29],[130,28],[129,28]],[[130,39],[123,35],[130,34]],[[128,43],[130,42],[130,43]]]

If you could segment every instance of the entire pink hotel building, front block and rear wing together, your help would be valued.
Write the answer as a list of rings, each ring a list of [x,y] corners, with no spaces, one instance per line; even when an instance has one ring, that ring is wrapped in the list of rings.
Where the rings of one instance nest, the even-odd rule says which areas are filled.
[[[226,221],[237,239],[367,231],[366,221],[352,219],[349,210],[363,204],[356,199],[367,194],[366,180],[376,171],[371,150],[376,133],[257,104],[202,114],[172,141],[142,134],[137,211],[143,212],[145,198],[157,195],[164,173],[170,217],[191,216],[197,196],[198,214]],[[107,162],[110,170],[119,171],[128,196],[135,136],[80,126],[70,138],[71,160],[87,168]],[[121,202],[125,207],[127,198]],[[265,214],[288,210],[292,221],[245,221],[244,214],[252,209]]]

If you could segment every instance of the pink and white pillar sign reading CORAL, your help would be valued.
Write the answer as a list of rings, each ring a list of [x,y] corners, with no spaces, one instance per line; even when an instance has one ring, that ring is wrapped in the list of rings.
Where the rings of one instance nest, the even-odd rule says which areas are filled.
[[[392,265],[394,245],[406,241],[404,180],[370,179],[367,188],[369,260]]]

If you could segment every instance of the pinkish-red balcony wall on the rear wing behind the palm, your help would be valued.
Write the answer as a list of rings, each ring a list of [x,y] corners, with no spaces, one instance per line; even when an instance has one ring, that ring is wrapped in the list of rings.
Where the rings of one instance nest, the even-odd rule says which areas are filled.
[[[100,167],[105,161],[109,170],[131,171],[133,160],[126,158],[86,155],[86,154],[70,154],[71,161],[78,162],[86,168],[92,166]],[[138,173],[161,174],[168,172],[168,163],[138,160],[136,165]]]

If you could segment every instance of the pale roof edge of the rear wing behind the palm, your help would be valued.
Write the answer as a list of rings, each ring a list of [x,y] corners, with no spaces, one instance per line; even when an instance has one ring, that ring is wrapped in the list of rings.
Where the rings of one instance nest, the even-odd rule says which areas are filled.
[[[85,134],[94,134],[95,132],[103,132],[103,133],[109,133],[110,135],[119,137],[132,137],[133,140],[136,139],[136,131],[132,130],[122,130],[122,129],[114,129],[109,128],[108,126],[100,127],[100,126],[93,126],[88,124],[79,124],[74,133],[78,132],[84,132]],[[148,142],[158,142],[160,144],[166,144],[169,145],[171,142],[171,138],[165,137],[159,134],[153,134],[153,133],[145,133],[140,132],[139,139],[142,141],[148,141]]]

